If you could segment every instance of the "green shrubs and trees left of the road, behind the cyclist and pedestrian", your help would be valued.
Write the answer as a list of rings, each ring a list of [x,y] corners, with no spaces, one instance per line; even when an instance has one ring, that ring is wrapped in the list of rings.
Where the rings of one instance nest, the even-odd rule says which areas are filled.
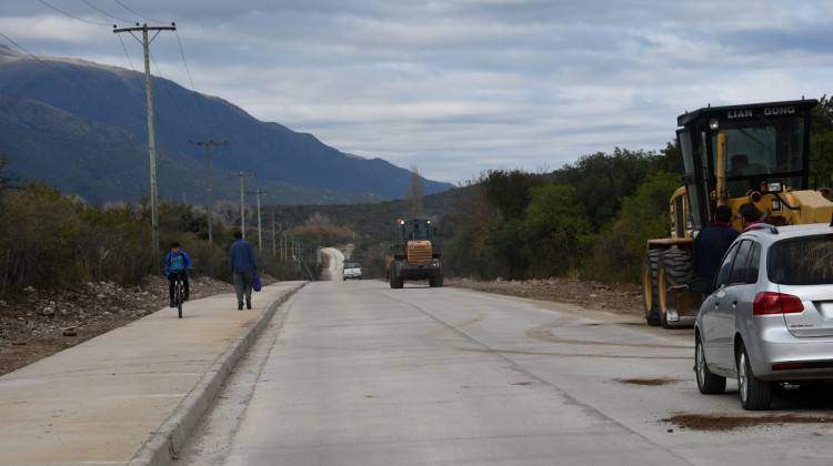
[[[194,273],[231,282],[228,251],[239,225],[214,222],[214,241],[209,243],[204,209],[160,200],[155,252],[148,199],[90,204],[44,183],[16,178],[9,162],[0,155],[0,298],[14,297],[29,286],[63,288],[89,281],[134,285],[162,274],[173,241],[193,259]],[[320,273],[317,244],[304,234],[288,236],[294,247],[285,254],[271,244],[259,251],[257,229],[247,225],[245,237],[255,246],[259,269],[269,275],[309,280]]]

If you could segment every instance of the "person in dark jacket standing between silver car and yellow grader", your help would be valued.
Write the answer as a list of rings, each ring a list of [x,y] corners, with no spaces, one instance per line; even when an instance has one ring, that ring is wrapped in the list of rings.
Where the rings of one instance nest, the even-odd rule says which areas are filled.
[[[714,222],[694,237],[691,253],[691,266],[695,278],[712,282],[720,267],[720,261],[729,251],[732,242],[741,233],[732,227],[732,207],[717,205],[714,210]]]

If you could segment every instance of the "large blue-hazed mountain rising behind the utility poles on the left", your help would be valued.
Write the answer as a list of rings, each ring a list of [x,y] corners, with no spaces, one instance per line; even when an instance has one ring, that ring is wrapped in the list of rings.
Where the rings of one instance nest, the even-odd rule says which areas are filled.
[[[402,199],[411,171],[382,159],[345,154],[312,134],[262,122],[220,98],[161,78],[153,91],[157,192],[204,202],[205,146],[211,199],[239,202],[265,191],[272,204]],[[0,47],[0,153],[8,170],[88,201],[139,200],[150,193],[144,74],[66,58],[33,58]],[[210,128],[207,128],[210,126]],[[454,188],[422,180],[425,194]]]

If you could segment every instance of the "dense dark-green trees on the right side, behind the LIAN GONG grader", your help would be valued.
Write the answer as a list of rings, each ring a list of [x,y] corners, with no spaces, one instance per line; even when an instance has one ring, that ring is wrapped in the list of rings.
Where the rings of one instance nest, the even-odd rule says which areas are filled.
[[[833,102],[825,95],[811,119],[810,189],[830,185],[832,132]],[[443,217],[444,272],[640,283],[646,241],[670,236],[669,200],[682,174],[673,143],[658,152],[616,148],[546,174],[483,173]]]

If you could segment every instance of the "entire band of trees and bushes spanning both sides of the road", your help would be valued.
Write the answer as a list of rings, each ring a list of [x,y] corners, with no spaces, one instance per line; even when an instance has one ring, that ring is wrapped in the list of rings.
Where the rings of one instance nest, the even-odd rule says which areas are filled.
[[[833,103],[823,97],[813,111],[811,189],[833,174],[825,149],[831,130]],[[198,273],[231,281],[227,253],[239,229],[231,222],[239,217],[230,206],[219,206],[229,212],[215,216],[209,244],[204,207],[161,200],[162,251],[154,253],[147,199],[109,206],[81,202],[16,179],[8,162],[0,155],[0,297],[30,285],[136,284],[161,273],[171,241],[182,243]],[[264,229],[259,265],[279,280],[309,280],[321,271],[320,247],[352,243],[352,260],[362,263],[364,275],[382,277],[395,220],[419,210],[440,229],[445,276],[639,283],[646,240],[669,235],[668,202],[681,174],[678,148],[668,143],[656,152],[616,148],[584,155],[549,173],[488,171],[424,200],[414,186],[403,200],[382,203],[264,206],[277,226],[268,222]],[[255,251],[258,233],[247,225]]]

